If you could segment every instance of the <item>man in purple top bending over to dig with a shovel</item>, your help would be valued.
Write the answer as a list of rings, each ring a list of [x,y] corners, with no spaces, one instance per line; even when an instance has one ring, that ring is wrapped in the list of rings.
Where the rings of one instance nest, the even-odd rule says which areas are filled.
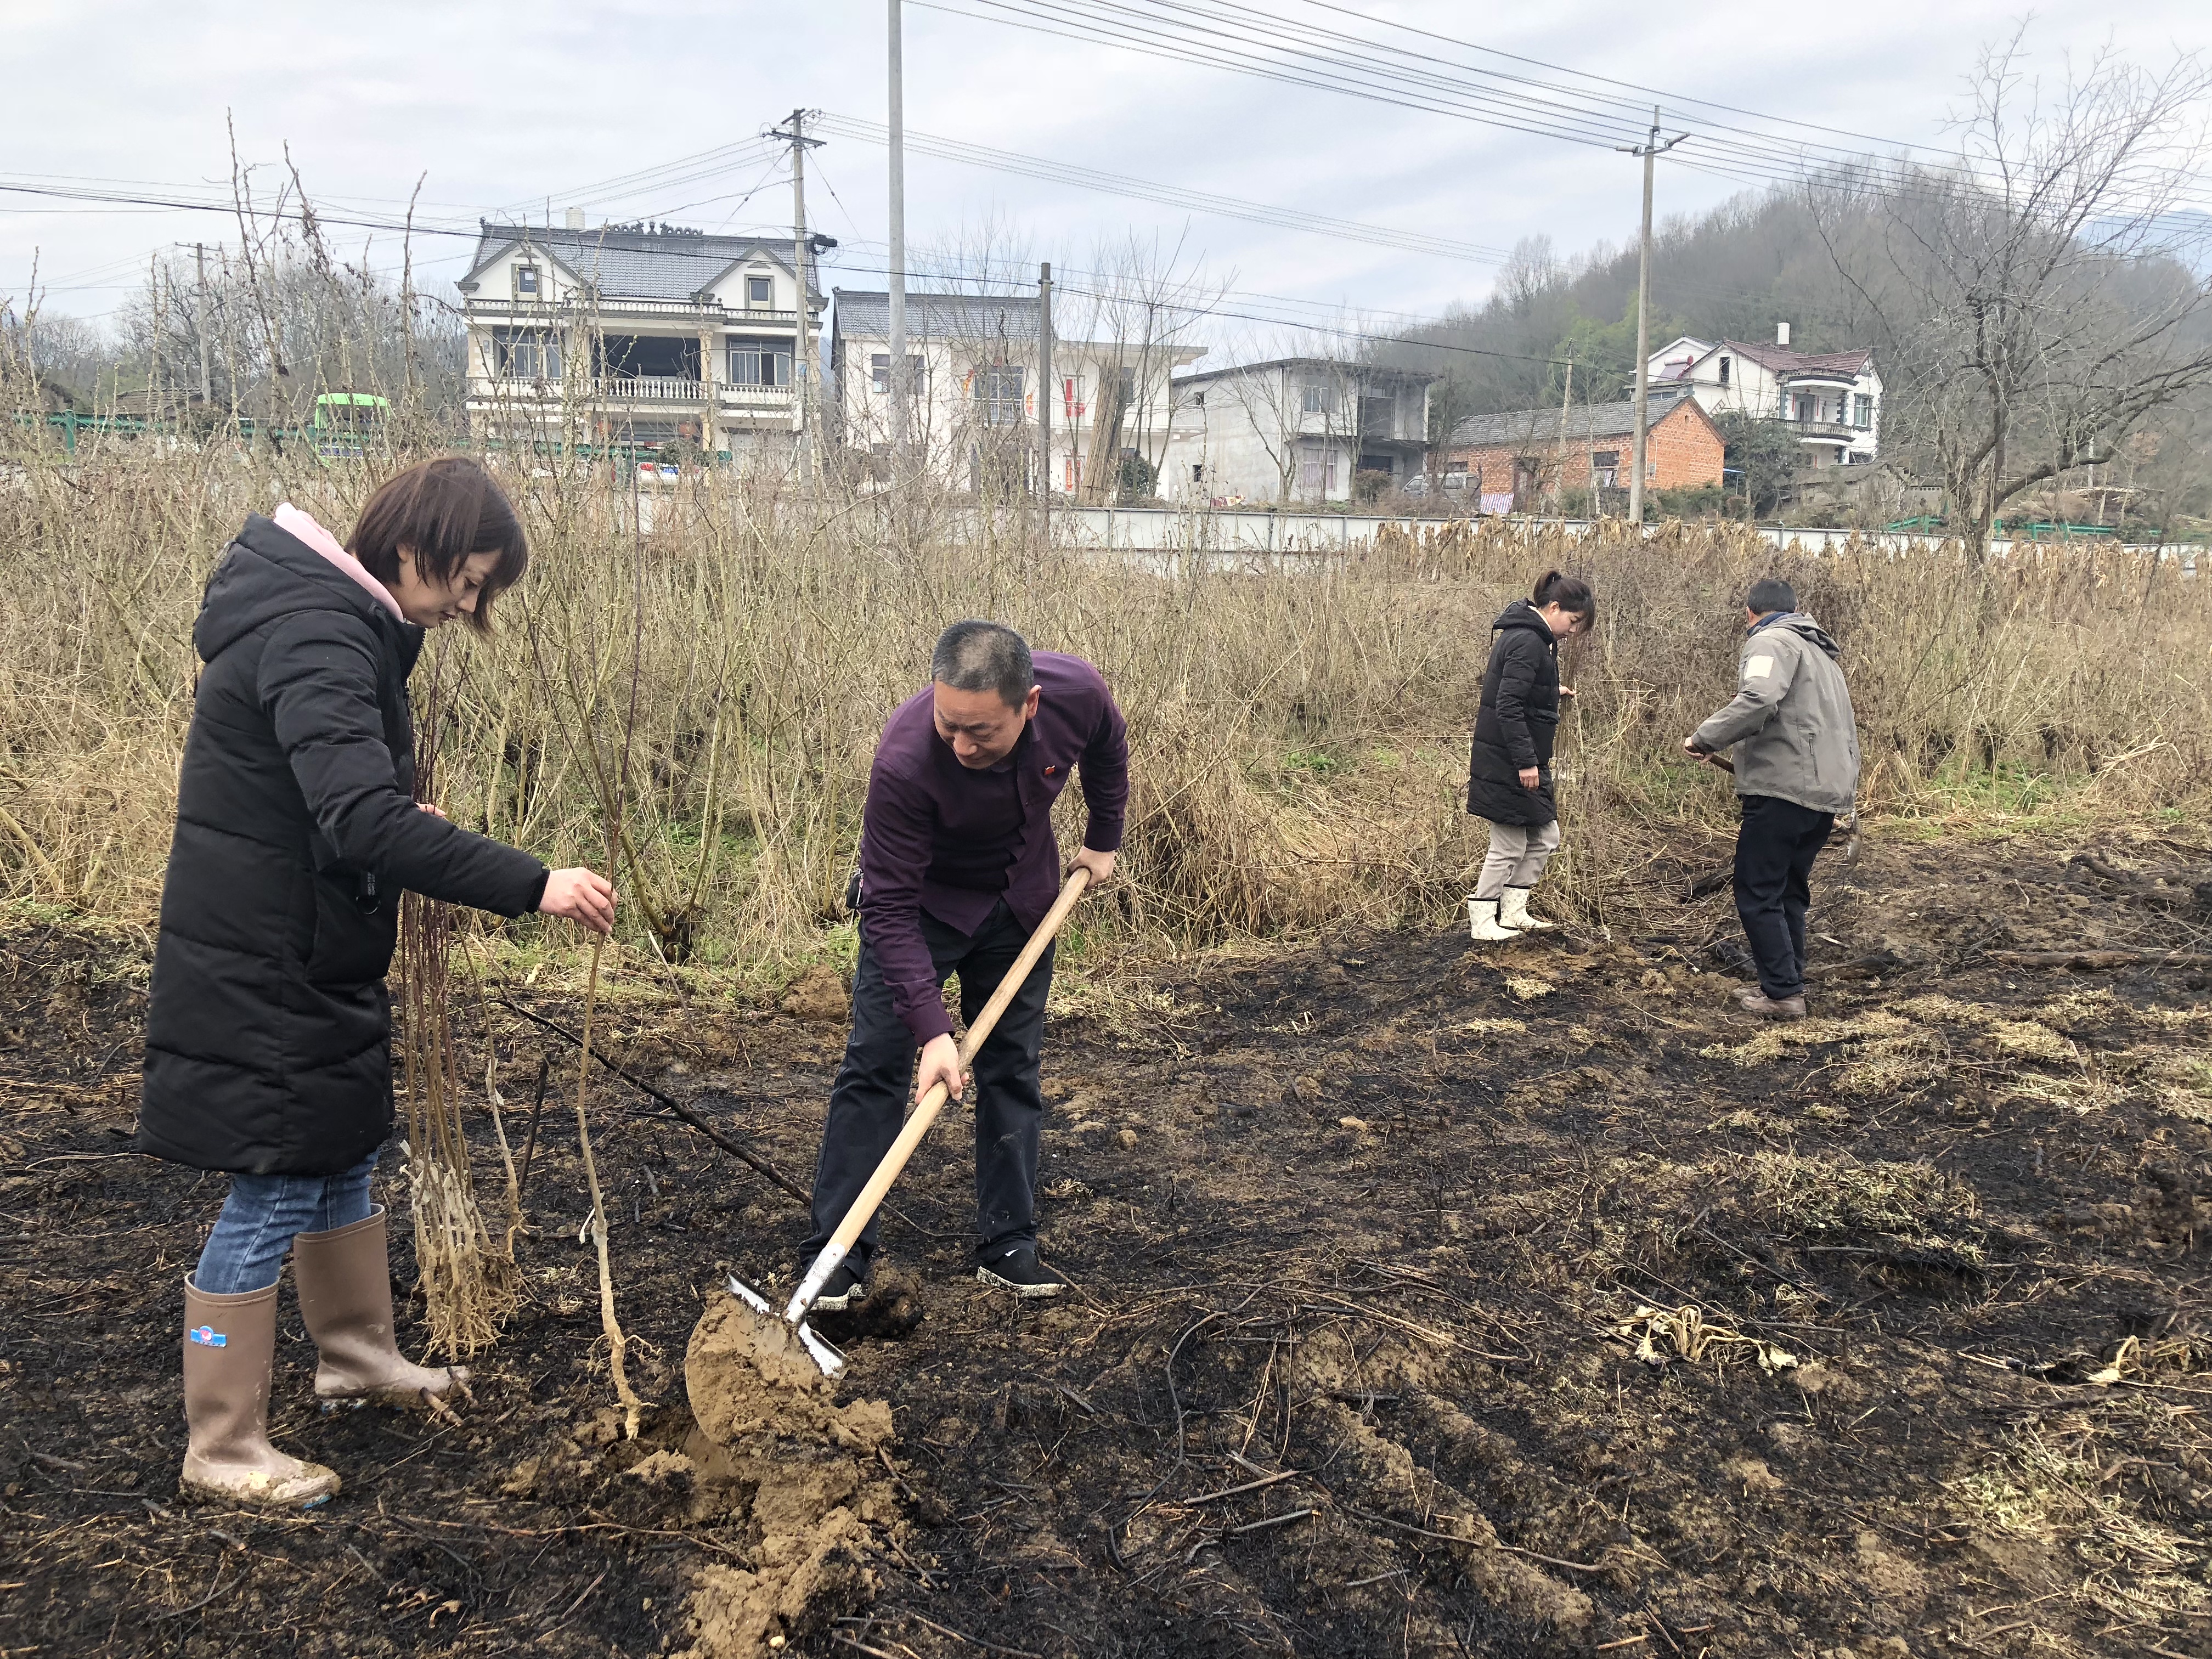
[[[991,1000],[1060,891],[1053,801],[1082,768],[1091,825],[1075,865],[1113,876],[1128,807],[1128,739],[1099,670],[1057,650],[1031,655],[1013,628],[956,622],[938,639],[931,686],[885,721],[860,827],[860,964],[852,1035],[830,1091],[814,1166],[814,1254],[898,1137],[909,1099],[942,1082],[962,1097],[945,980],[960,1018]],[[1053,987],[1046,949],[975,1055],[975,1276],[1020,1296],[1057,1296],[1037,1265],[1037,1048]],[[914,1051],[920,1048],[920,1066]],[[869,1221],[830,1274],[825,1312],[865,1296]]]

